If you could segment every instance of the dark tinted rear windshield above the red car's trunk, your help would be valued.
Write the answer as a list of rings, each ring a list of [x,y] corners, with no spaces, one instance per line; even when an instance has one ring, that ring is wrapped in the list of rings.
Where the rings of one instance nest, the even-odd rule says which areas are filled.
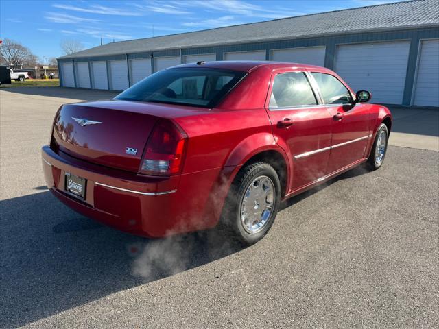
[[[159,71],[115,99],[211,108],[246,75],[222,69],[179,68]]]

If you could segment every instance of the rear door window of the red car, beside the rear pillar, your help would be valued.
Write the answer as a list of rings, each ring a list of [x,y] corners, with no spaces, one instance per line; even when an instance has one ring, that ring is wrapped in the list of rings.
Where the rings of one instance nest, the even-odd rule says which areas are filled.
[[[279,73],[274,77],[270,109],[316,104],[316,96],[309,85],[305,73]]]

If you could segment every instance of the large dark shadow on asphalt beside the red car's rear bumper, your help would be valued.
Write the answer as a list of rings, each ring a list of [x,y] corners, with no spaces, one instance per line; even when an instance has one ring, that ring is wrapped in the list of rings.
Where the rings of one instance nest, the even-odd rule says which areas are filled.
[[[38,319],[244,249],[218,230],[132,236],[78,215],[49,191],[0,202],[0,328]]]

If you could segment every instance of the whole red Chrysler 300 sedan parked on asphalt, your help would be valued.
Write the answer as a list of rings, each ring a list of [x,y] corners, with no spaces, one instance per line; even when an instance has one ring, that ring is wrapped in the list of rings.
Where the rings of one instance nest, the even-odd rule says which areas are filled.
[[[319,66],[175,66],[110,101],[61,106],[45,179],[119,230],[158,237],[222,222],[254,243],[283,199],[364,162],[381,167],[392,115],[369,99]]]

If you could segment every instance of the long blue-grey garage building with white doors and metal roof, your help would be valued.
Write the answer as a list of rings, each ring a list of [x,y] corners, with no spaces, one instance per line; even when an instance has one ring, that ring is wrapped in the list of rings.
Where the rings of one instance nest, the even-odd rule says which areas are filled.
[[[61,85],[124,90],[178,64],[274,60],[326,66],[379,103],[439,107],[438,10],[413,0],[112,42],[58,58]]]

